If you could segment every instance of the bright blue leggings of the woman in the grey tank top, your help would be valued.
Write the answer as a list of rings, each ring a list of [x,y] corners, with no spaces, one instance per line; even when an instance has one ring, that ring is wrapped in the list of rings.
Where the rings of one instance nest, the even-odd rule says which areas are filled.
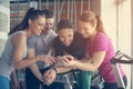
[[[0,89],[10,89],[9,79],[0,76]]]

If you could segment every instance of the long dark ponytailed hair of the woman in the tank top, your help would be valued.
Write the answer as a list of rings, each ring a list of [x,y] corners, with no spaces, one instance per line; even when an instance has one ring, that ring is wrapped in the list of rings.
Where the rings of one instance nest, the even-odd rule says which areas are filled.
[[[17,24],[12,30],[10,30],[9,34],[14,33],[17,31],[25,30],[27,28],[29,28],[29,22],[28,22],[29,19],[35,20],[38,19],[39,16],[45,18],[44,13],[41,10],[37,10],[34,8],[28,9],[23,20],[19,24]]]

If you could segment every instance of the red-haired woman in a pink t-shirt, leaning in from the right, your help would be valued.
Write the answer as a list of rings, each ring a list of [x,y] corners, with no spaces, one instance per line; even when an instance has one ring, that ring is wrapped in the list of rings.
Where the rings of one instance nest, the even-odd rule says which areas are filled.
[[[74,60],[74,57],[65,56],[64,65],[85,71],[99,69],[105,81],[104,89],[117,89],[116,78],[110,62],[115,52],[110,38],[104,32],[100,17],[92,11],[84,12],[79,19],[79,32],[88,39],[88,57],[82,60]],[[121,67],[120,70],[126,86],[126,77]]]

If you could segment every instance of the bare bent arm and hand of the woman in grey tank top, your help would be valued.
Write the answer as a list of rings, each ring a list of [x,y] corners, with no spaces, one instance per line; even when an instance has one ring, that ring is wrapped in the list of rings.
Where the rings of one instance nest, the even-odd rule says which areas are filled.
[[[27,44],[27,37],[24,33],[18,33],[18,34],[13,36],[12,43],[14,47],[13,63],[14,63],[16,69],[25,68],[39,60],[44,61],[44,62],[49,61],[51,63],[55,61],[53,57],[50,57],[50,56],[48,57],[45,55],[34,56],[34,57],[24,59],[22,57],[24,46]]]

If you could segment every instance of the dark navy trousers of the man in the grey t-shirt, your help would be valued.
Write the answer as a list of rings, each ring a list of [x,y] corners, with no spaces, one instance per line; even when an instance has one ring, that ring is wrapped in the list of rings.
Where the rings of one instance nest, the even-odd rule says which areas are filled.
[[[48,68],[47,68],[48,69]],[[42,73],[47,70],[40,70]],[[43,89],[64,89],[63,83],[53,82],[50,86],[43,85],[29,68],[25,70],[25,88],[27,89],[40,89],[40,85],[42,85]]]

